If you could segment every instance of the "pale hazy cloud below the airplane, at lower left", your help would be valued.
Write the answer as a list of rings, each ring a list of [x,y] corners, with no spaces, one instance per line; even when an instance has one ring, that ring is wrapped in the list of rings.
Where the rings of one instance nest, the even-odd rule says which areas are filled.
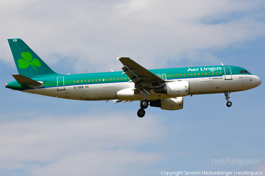
[[[42,115],[1,123],[1,168],[22,168],[33,175],[72,175],[77,170],[78,175],[97,175],[102,165],[104,173],[113,174],[163,160],[160,154],[137,148],[168,140],[163,137],[168,133],[165,126],[155,117],[138,120],[126,113],[126,117],[95,112],[77,117]]]

